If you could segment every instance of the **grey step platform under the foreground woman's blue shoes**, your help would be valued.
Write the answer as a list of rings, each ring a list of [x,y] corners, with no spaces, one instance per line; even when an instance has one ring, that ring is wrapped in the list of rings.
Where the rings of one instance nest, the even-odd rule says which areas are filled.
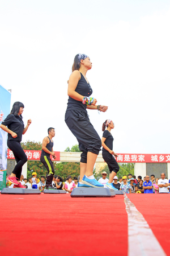
[[[108,188],[74,188],[71,197],[114,197]]]

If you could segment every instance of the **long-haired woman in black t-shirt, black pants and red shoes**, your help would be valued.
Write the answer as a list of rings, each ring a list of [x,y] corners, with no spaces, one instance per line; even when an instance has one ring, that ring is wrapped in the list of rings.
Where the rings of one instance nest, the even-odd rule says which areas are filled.
[[[27,125],[24,127],[22,113],[24,111],[24,104],[16,101],[12,106],[11,113],[7,115],[6,119],[1,123],[2,130],[8,133],[7,146],[13,152],[16,166],[7,180],[14,184],[14,188],[25,188],[20,183],[20,176],[22,174],[22,167],[27,162],[27,156],[20,144],[22,135],[26,133],[31,119],[28,119]]]

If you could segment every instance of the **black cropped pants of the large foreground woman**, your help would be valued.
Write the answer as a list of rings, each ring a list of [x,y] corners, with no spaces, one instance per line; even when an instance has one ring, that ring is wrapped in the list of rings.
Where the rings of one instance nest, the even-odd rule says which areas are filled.
[[[87,152],[99,155],[101,139],[92,126],[87,113],[79,110],[67,110],[65,122],[74,134],[82,151],[80,162],[87,163]]]

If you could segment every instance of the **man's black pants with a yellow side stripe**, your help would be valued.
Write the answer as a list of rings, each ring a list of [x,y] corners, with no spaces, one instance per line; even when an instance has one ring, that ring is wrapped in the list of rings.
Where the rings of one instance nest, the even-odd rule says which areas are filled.
[[[53,176],[54,176],[54,166],[53,162],[49,156],[41,155],[40,161],[44,164],[46,170],[48,171],[48,175],[46,176],[46,185],[52,185]]]

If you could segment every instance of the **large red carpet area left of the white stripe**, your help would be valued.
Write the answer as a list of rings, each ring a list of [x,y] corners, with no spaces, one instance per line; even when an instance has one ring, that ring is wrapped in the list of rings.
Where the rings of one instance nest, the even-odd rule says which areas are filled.
[[[124,196],[0,195],[0,203],[3,256],[128,253]]]

